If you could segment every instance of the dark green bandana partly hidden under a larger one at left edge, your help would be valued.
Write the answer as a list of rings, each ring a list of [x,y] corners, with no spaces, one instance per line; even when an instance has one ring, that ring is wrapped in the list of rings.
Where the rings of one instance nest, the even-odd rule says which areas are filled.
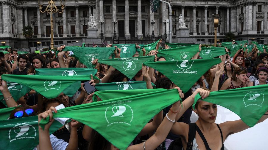
[[[8,81],[7,81],[7,89],[9,90],[10,94],[12,95],[15,101],[17,101],[19,98],[21,98],[22,96],[31,91],[31,89],[25,85]],[[0,101],[7,106],[6,101],[3,98],[4,96],[2,92],[0,92]]]

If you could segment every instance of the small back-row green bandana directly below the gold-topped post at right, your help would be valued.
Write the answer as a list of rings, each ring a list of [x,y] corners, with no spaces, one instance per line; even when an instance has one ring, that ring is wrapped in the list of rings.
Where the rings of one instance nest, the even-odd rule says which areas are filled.
[[[225,55],[225,48],[224,47],[201,47],[201,52],[200,56],[203,59],[210,59],[210,58],[215,58],[220,55]]]

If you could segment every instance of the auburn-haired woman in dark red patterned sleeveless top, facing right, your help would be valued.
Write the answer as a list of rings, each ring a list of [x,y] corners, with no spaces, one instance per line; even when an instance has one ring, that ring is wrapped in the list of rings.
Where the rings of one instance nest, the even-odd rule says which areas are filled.
[[[247,78],[247,68],[237,67],[233,71],[232,78],[227,79],[223,84],[220,90],[230,90],[240,87],[246,87],[249,84]]]

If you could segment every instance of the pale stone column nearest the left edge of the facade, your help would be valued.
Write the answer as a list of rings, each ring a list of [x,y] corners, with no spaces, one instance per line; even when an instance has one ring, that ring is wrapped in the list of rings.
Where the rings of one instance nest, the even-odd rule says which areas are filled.
[[[7,2],[2,2],[2,7],[3,7],[3,33],[11,33],[10,7]]]

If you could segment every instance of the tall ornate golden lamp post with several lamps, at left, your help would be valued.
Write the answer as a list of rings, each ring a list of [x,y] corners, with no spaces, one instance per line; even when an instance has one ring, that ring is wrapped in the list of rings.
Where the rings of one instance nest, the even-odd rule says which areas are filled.
[[[53,42],[53,36],[54,36],[54,34],[53,34],[53,13],[56,13],[56,12],[62,13],[64,11],[65,0],[60,0],[61,11],[59,11],[59,9],[57,9],[57,6],[55,5],[56,2],[53,1],[53,0],[49,0],[46,9],[44,11],[42,11],[43,3],[44,3],[43,0],[38,1],[39,10],[42,13],[47,12],[47,13],[50,14],[50,31],[51,31],[50,32],[50,34],[51,34],[51,43],[50,43],[50,45],[51,45],[51,49],[54,49],[54,42]]]

